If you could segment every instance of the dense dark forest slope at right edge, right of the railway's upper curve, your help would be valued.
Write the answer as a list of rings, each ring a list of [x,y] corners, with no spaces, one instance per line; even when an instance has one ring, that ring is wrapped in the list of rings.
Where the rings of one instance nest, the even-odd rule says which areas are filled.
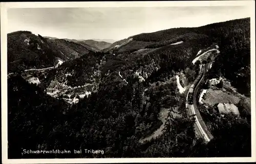
[[[223,75],[242,94],[250,96],[250,19],[210,24],[200,31],[220,46],[209,78]]]

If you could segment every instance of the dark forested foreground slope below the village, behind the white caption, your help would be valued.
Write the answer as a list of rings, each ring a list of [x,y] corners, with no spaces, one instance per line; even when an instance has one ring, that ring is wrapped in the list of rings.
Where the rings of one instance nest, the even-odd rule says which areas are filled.
[[[8,100],[8,119],[12,120],[8,124],[9,158],[250,156],[250,135],[246,135],[250,134],[250,125],[246,120],[232,115],[228,121],[216,117],[216,138],[205,145],[195,138],[193,120],[187,118],[184,106],[179,109],[182,120],[169,115],[159,138],[138,144],[143,132],[150,130],[147,126],[158,124],[155,120],[163,95],[148,92],[152,105],[146,108],[141,105],[143,85],[138,81],[122,87],[115,85],[105,86],[78,104],[68,106],[65,101],[53,99],[35,85],[29,85],[22,77],[8,79],[8,96],[12,97]],[[30,101],[33,103],[27,103]],[[99,149],[104,154],[20,153],[21,149],[54,148]]]

